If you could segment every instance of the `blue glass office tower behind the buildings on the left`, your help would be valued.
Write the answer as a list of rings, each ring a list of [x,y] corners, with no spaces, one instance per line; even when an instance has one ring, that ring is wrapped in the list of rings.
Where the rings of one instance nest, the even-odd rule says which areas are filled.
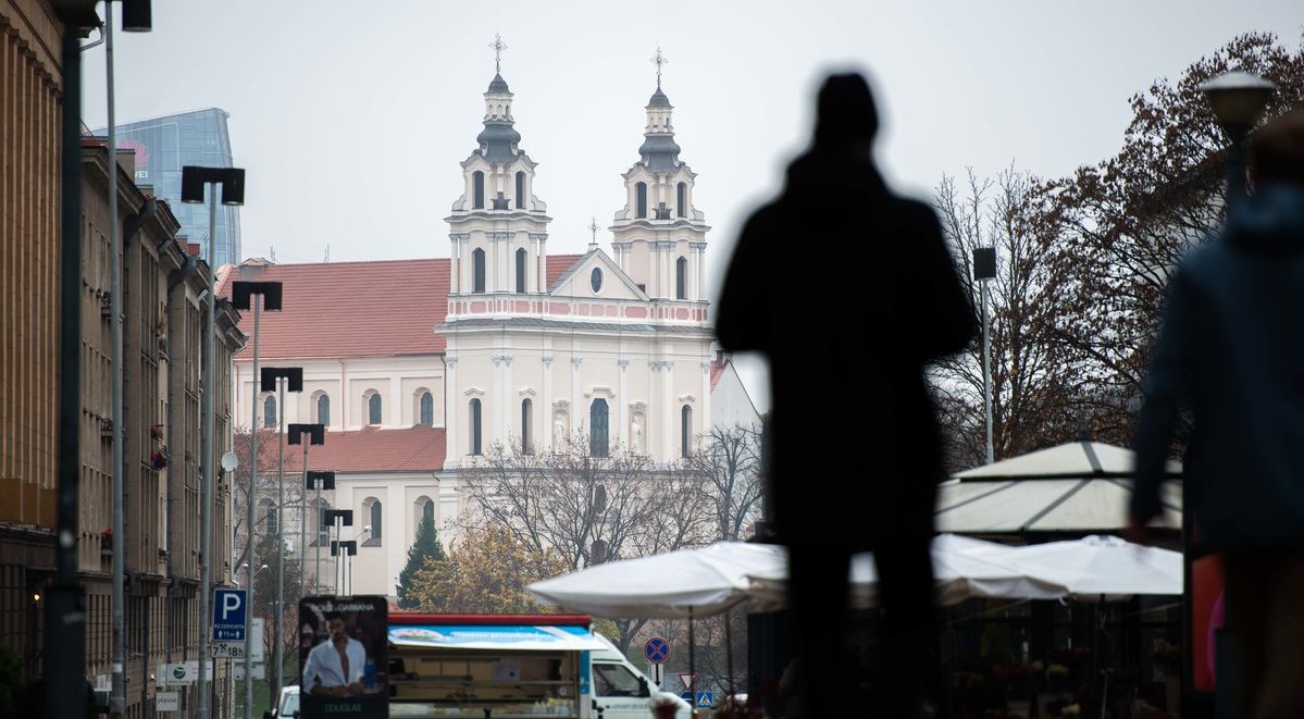
[[[156,197],[167,200],[181,222],[180,234],[200,244],[203,260],[209,258],[209,204],[181,204],[181,167],[232,167],[227,117],[224,110],[209,107],[117,125],[117,146],[136,150],[136,184],[153,187]],[[215,266],[240,262],[240,207],[222,205],[220,196],[216,230]]]

